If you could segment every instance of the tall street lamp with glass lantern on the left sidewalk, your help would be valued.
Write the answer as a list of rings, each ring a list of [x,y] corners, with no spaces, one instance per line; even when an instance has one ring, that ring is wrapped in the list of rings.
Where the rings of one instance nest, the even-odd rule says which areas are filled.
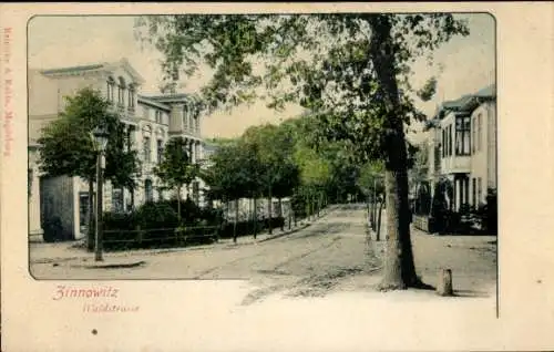
[[[94,242],[94,260],[95,261],[102,261],[104,260],[102,258],[102,205],[103,205],[103,196],[102,196],[102,190],[103,190],[103,179],[102,179],[102,170],[105,168],[105,149],[107,146],[107,137],[109,133],[103,126],[99,126],[94,128],[92,132],[92,135],[94,137],[94,147],[98,153],[96,157],[96,236],[95,236],[95,242]]]

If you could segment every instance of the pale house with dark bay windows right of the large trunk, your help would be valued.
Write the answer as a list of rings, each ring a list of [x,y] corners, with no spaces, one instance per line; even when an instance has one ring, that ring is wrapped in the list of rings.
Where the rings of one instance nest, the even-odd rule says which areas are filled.
[[[495,86],[443,103],[425,130],[431,196],[442,180],[451,210],[484,205],[496,189]]]

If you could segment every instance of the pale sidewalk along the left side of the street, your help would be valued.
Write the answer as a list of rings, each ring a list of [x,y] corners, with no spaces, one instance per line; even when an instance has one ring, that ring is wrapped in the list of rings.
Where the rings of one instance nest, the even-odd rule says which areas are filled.
[[[321,211],[320,217],[316,218],[318,221],[322,217],[329,214],[329,210]],[[199,245],[189,247],[176,247],[176,248],[156,248],[156,249],[132,249],[125,251],[104,251],[103,266],[116,266],[126,267],[135,266],[137,262],[132,261],[132,258],[154,256],[167,252],[178,252],[178,251],[189,251],[189,250],[206,250],[214,247],[217,248],[235,248],[237,246],[248,246],[265,242],[268,240],[277,239],[284,236],[293,235],[299,230],[302,230],[314,224],[315,221],[302,220],[298,221],[298,225],[293,226],[290,230],[288,225],[285,226],[285,230],[281,231],[279,228],[274,228],[273,234],[263,231],[256,236],[254,239],[253,235],[242,236],[237,238],[237,242],[233,242],[233,238],[219,239],[217,242],[212,245]],[[94,252],[89,252],[82,247],[83,242],[71,241],[71,242],[57,242],[57,244],[45,244],[45,242],[30,242],[29,244],[29,261],[31,263],[57,263],[57,262],[76,262],[81,265],[90,266],[94,262]],[[79,266],[81,266],[79,265]]]

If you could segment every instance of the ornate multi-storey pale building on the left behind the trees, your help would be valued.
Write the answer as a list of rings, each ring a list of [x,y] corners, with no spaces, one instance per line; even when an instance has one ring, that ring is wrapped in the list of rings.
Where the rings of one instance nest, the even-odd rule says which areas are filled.
[[[85,66],[29,71],[29,232],[40,237],[44,224],[55,219],[63,238],[83,238],[88,228],[89,189],[79,177],[49,178],[40,174],[41,130],[57,120],[65,107],[64,96],[91,87],[112,103],[125,126],[127,147],[138,153],[142,165],[138,187],[133,191],[104,185],[104,210],[129,211],[148,200],[167,199],[174,194],[161,190],[153,174],[164,146],[172,137],[188,144],[192,162],[203,158],[201,115],[197,104],[186,94],[140,94],[144,80],[125,60]],[[202,179],[183,189],[182,198],[204,204]],[[185,187],[184,187],[185,188]]]

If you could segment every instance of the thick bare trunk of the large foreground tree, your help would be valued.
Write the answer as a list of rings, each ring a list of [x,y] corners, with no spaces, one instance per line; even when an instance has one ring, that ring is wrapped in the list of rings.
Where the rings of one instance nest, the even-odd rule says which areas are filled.
[[[403,120],[399,116],[400,100],[394,75],[394,49],[388,15],[369,14],[371,27],[370,53],[381,86],[387,112],[384,193],[387,199],[387,251],[381,290],[416,287],[410,239],[407,149]]]

